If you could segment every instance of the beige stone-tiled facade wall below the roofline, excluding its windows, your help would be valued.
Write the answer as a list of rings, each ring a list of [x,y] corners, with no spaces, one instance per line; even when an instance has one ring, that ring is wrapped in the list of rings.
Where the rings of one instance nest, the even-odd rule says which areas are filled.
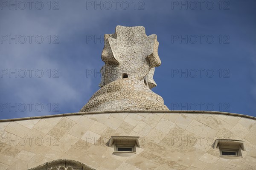
[[[2,120],[0,129],[1,170],[27,170],[58,159],[78,161],[89,169],[256,168],[256,119],[238,114],[73,113]],[[139,136],[140,147],[128,156],[115,155],[114,144],[108,146],[111,136]],[[215,139],[244,141],[245,150],[241,157],[221,157],[213,148]]]

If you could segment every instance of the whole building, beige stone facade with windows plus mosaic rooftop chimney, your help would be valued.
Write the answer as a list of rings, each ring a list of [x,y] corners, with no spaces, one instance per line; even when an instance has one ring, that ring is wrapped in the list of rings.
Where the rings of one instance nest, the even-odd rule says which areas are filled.
[[[256,118],[169,111],[157,36],[105,34],[101,87],[79,113],[1,120],[1,170],[255,170]]]

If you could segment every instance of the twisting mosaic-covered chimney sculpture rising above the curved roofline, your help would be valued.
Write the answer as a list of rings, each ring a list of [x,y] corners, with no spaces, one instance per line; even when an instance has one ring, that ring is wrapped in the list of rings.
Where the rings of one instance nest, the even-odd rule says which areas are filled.
[[[161,60],[157,35],[147,36],[143,26],[116,26],[105,34],[100,89],[80,112],[88,111],[168,111],[163,98],[153,91],[154,68]]]

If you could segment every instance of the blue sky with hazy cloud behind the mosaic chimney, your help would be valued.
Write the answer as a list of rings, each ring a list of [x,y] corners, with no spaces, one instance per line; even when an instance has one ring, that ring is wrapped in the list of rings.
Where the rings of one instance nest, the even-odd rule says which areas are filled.
[[[157,34],[152,90],[170,110],[256,116],[255,0],[11,2],[0,10],[0,119],[78,112],[117,25]]]

